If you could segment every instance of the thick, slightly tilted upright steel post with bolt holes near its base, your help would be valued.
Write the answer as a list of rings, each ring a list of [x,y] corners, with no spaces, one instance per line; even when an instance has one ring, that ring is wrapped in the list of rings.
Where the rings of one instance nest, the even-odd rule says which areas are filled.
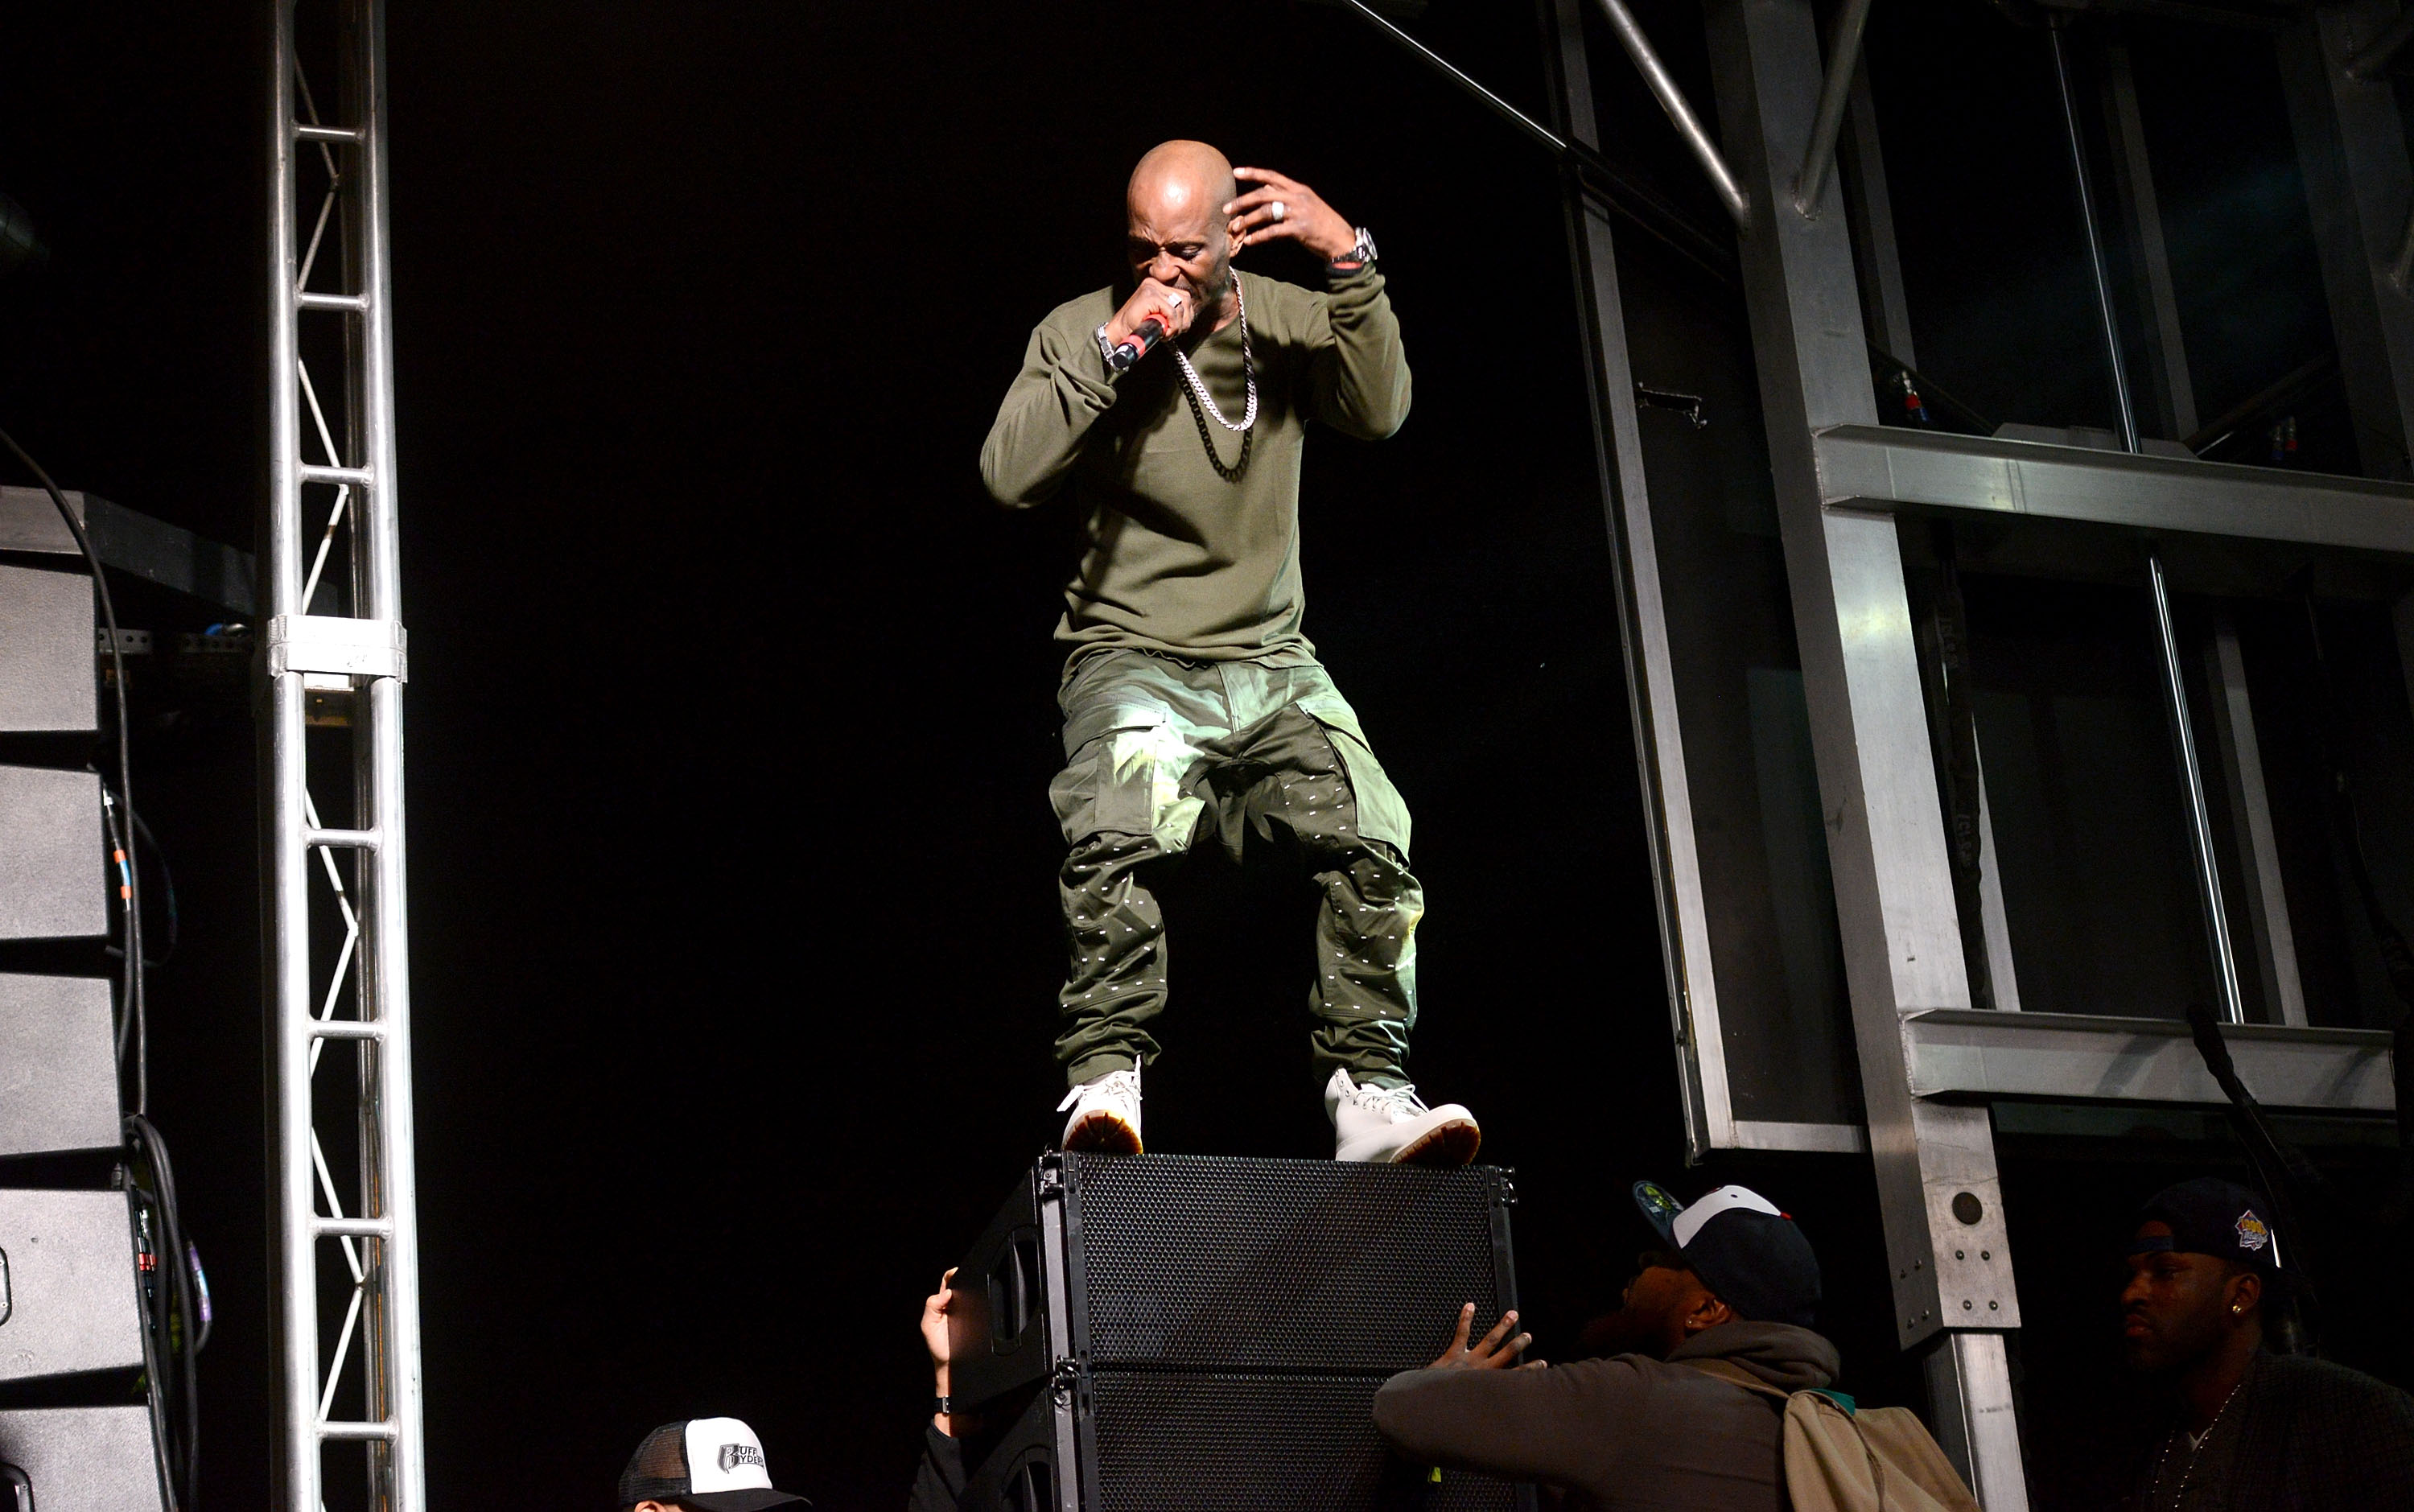
[[[1967,1010],[1970,973],[1895,522],[1823,500],[1815,437],[1837,425],[1876,432],[1878,418],[1849,234],[1832,215],[1774,210],[1813,135],[1818,29],[1808,0],[1712,0],[1709,43],[1721,135],[1753,205],[1740,237],[1745,309],[1827,816],[1895,1338],[1912,1348],[1977,1316],[2013,1328],[2018,1295],[1987,1109],[1912,1097],[1905,1063],[1902,1014]],[[1972,1302],[1967,1314],[1963,1299]],[[1948,1406],[2011,1403],[1999,1350],[1955,1338],[1941,1369],[1936,1396]],[[2025,1512],[2018,1435],[1951,1437],[1979,1502]]]

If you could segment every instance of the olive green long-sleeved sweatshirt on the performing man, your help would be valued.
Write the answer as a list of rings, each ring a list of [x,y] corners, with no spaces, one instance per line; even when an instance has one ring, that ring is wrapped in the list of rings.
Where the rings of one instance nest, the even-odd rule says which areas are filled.
[[[1031,333],[1024,370],[997,406],[980,478],[1007,507],[1072,493],[1084,517],[1081,568],[1065,585],[1057,640],[1074,657],[1139,647],[1200,662],[1313,655],[1301,633],[1299,452],[1308,420],[1381,440],[1407,418],[1400,321],[1374,268],[1328,292],[1241,273],[1258,372],[1248,466],[1241,435],[1207,415],[1207,435],[1166,348],[1113,372],[1096,331],[1113,290],[1060,304]],[[1190,362],[1224,415],[1248,408],[1241,321],[1185,333]]]

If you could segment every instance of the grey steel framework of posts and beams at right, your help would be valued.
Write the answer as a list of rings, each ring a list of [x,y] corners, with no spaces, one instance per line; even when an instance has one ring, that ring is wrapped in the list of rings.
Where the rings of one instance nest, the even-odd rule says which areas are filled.
[[[1639,31],[1613,10],[1613,31],[1663,104],[1663,70]],[[1543,0],[1559,130],[1598,147],[1581,0]],[[2414,14],[2414,12],[2407,12]],[[2021,1326],[2008,1232],[1996,1181],[1994,1099],[2062,1104],[2182,1101],[2221,1094],[2173,1019],[2018,1012],[2018,983],[2004,940],[1992,857],[1992,821],[1977,807],[1982,940],[1965,935],[1955,899],[1948,826],[1941,812],[1929,696],[1905,575],[1905,531],[1955,514],[2093,522],[2156,539],[2284,541],[2414,558],[2414,488],[2407,473],[2407,415],[2414,413],[2414,304],[2397,268],[2414,261],[2409,167],[2395,99],[2356,70],[2395,51],[2414,22],[2392,24],[2390,0],[2334,0],[2286,29],[2284,72],[2305,157],[2308,198],[2322,242],[2342,367],[2356,411],[2358,447],[2373,478],[2322,478],[2173,459],[2139,442],[2110,324],[2100,232],[2076,152],[2076,99],[2052,39],[2062,104],[2105,314],[2105,343],[2119,386],[2119,452],[2033,440],[1965,437],[1878,428],[1871,343],[1909,362],[1909,324],[1885,203],[1868,85],[1859,70],[1866,5],[1844,0],[1827,56],[1810,0],[1712,0],[1709,53],[1724,162],[1704,157],[1690,111],[1670,106],[1738,213],[1740,285],[1750,316],[1757,386],[1769,440],[1777,517],[1801,650],[1803,696],[1818,766],[1820,807],[1852,1039],[1866,1118],[1782,1123],[1743,1116],[1731,1092],[1728,1051],[1740,1036],[1784,1034],[1753,1017],[1745,1000],[1721,1024],[1712,971],[1704,853],[1697,843],[1687,729],[1673,657],[1668,594],[1680,587],[1654,541],[1651,478],[1639,447],[1634,374],[1627,350],[1617,249],[1605,200],[1569,181],[1569,229],[1588,338],[1600,483],[1620,563],[1620,628],[1627,642],[1629,708],[1644,754],[1644,802],[1654,816],[1654,872],[1668,961],[1668,993],[1683,1063],[1687,1133],[1695,1155],[1743,1150],[1868,1150],[1873,1155],[1895,1324],[1902,1348],[1924,1350],[1938,1440],[1989,1512],[2028,1505],[2006,1341]],[[2153,188],[2136,138],[2127,58],[2110,68],[2124,220],[2139,234],[2151,295],[2148,338],[2161,425],[2197,425],[2187,360],[2170,312],[2170,278],[2153,213]],[[1844,126],[1847,184],[1830,171]],[[1842,210],[1852,208],[1852,215]],[[2409,225],[2400,246],[2397,227]],[[1864,328],[1866,326],[1866,328]],[[1678,568],[1680,572],[1680,568]],[[2209,954],[2221,981],[2221,1029],[2255,1092],[2274,1106],[2330,1113],[2395,1109],[2390,1036],[2305,1024],[2269,814],[2235,630],[2211,650],[2214,729],[2228,787],[2238,790],[2245,836],[2252,966],[2267,983],[2272,1022],[2240,1010],[2243,964],[2223,925],[2218,867],[2206,821],[2170,630],[2161,556],[2148,556],[2158,609],[2161,664],[2173,700],[2175,756],[2189,797],[2197,884]],[[2414,618],[2409,613],[2400,623]],[[2414,642],[2409,642],[2414,655]],[[1695,737],[1699,739],[1699,737]],[[1965,942],[1984,952],[1979,971]],[[1975,983],[1984,981],[1979,995]]]

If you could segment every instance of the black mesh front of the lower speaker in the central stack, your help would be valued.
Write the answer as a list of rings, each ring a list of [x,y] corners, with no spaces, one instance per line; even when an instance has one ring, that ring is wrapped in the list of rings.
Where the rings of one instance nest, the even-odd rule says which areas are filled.
[[[1098,1372],[1091,1377],[1098,1512],[1376,1507],[1386,1456],[1369,1403],[1381,1384],[1383,1377]],[[1509,1512],[1516,1488],[1446,1473],[1415,1505]]]

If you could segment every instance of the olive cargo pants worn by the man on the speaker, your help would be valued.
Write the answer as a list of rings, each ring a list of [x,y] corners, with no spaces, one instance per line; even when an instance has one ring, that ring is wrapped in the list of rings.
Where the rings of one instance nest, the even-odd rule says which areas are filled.
[[[1357,713],[1316,662],[1178,662],[1091,652],[1067,669],[1065,770],[1050,783],[1069,855],[1057,889],[1072,969],[1057,1060],[1074,1084],[1156,1058],[1166,925],[1149,877],[1202,836],[1238,860],[1282,845],[1323,889],[1316,918],[1316,1075],[1405,1082],[1417,1024],[1407,804]]]

